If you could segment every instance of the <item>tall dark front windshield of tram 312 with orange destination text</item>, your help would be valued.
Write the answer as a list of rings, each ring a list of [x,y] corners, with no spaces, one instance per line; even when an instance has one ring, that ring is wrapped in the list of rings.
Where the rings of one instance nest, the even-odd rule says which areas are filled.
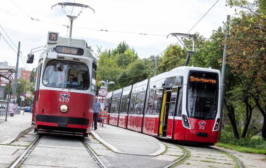
[[[188,116],[215,119],[218,104],[218,74],[190,71],[188,79]]]

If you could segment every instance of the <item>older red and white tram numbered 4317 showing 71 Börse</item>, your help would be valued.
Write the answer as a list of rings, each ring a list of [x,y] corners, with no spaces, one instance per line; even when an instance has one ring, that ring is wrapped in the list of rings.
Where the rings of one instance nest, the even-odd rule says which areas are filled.
[[[29,54],[27,63],[32,63]],[[35,132],[87,136],[92,130],[97,59],[85,40],[48,32],[33,100]]]

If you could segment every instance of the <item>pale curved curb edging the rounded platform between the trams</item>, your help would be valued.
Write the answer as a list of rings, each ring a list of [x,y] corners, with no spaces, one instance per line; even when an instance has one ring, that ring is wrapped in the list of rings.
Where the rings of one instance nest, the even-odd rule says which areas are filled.
[[[158,156],[160,155],[162,152],[164,152],[164,150],[166,149],[165,146],[162,143],[158,143],[160,145],[160,149],[157,150],[154,153],[151,154],[137,154],[137,153],[125,153],[122,152],[121,150],[117,149],[115,146],[112,146],[111,144],[107,143],[105,140],[103,140],[100,136],[98,136],[97,133],[95,133],[94,131],[91,132],[92,135],[98,139],[101,143],[103,143],[104,145],[106,145],[107,147],[111,148],[115,153],[122,153],[122,154],[128,154],[128,155],[141,155],[141,156]]]

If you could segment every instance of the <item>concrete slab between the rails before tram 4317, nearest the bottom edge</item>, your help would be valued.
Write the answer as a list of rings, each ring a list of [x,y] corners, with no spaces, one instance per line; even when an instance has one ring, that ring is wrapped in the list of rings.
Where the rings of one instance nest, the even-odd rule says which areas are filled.
[[[38,166],[56,166],[56,167],[92,167],[99,168],[92,157],[72,157],[72,158],[58,158],[58,157],[43,157],[43,156],[29,156],[24,162],[26,165]]]

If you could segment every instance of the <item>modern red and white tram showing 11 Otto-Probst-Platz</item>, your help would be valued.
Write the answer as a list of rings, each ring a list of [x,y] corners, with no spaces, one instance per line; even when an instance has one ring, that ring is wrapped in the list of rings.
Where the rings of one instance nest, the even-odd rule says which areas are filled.
[[[113,91],[105,123],[180,143],[214,145],[220,125],[220,77],[219,70],[182,66],[136,83],[131,91],[131,86]],[[126,88],[127,100],[121,94]]]

